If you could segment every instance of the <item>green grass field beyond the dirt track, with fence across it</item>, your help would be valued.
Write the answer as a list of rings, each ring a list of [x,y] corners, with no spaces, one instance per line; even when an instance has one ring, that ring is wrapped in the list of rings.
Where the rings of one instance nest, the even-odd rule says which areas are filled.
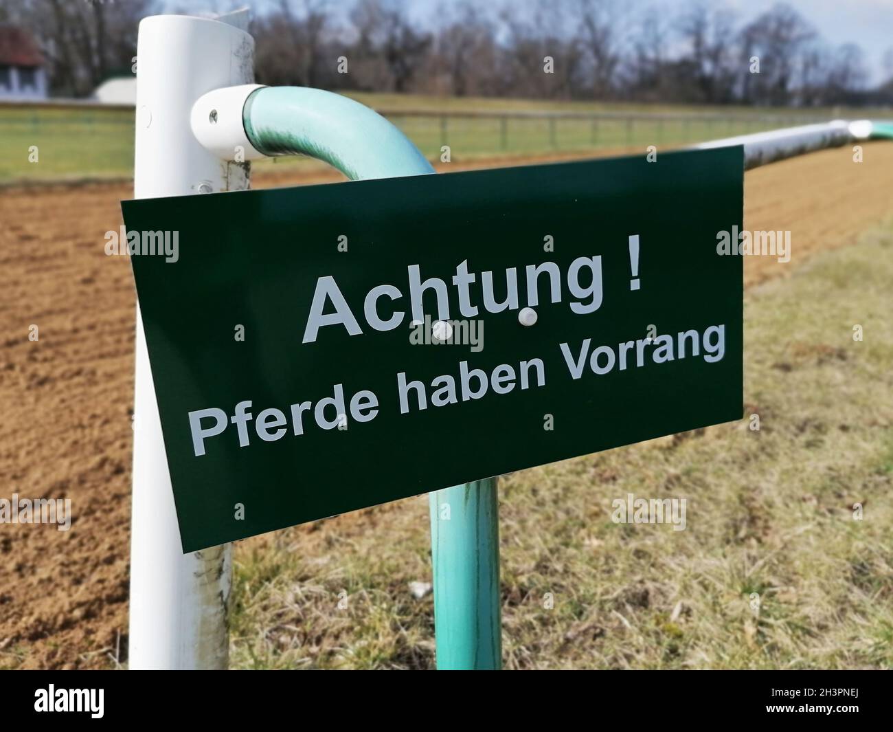
[[[363,104],[384,110],[421,151],[438,159],[448,145],[453,161],[470,157],[537,155],[599,148],[678,146],[779,126],[774,115],[790,122],[802,113],[739,107],[544,103],[524,99],[422,97],[354,94]],[[431,116],[413,116],[409,112]],[[491,115],[520,112],[574,114],[716,114],[705,122],[658,119],[547,119],[509,116],[462,117],[469,111]],[[810,112],[830,119],[840,110]],[[864,115],[864,111],[861,113]],[[770,117],[773,117],[770,119]],[[127,109],[22,107],[0,105],[0,183],[14,181],[95,180],[133,175],[133,112]],[[38,161],[30,162],[30,148]],[[279,164],[285,161],[280,160]],[[288,159],[288,164],[296,162]],[[298,164],[299,161],[297,161]],[[271,164],[263,161],[261,165]]]

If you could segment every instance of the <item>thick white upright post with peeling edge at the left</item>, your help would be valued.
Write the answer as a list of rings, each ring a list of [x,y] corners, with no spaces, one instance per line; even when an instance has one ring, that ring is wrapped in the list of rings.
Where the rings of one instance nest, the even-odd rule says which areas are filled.
[[[189,123],[198,97],[254,81],[245,26],[246,13],[158,15],[139,24],[136,198],[247,188],[246,166],[206,150]],[[180,548],[139,310],[136,352],[129,668],[225,669],[230,546],[185,556]]]

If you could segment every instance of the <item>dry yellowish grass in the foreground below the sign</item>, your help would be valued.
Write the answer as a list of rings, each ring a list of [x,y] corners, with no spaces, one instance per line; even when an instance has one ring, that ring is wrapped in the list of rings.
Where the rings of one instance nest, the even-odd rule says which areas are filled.
[[[746,419],[502,478],[506,668],[893,666],[891,288],[893,227],[817,255],[747,293]],[[613,524],[627,492],[686,498],[688,528]],[[235,563],[231,666],[433,667],[424,496]]]

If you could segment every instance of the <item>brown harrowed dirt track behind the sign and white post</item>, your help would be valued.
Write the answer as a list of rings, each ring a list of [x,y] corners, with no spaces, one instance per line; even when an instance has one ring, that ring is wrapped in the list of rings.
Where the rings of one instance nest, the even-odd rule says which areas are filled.
[[[748,284],[893,214],[893,145],[866,146],[863,164],[851,156],[747,173],[747,228],[793,240],[788,265],[747,260]],[[255,187],[334,180],[279,166]],[[0,498],[70,498],[73,514],[69,532],[0,525],[0,668],[108,668],[119,639],[126,661],[134,291],[103,237],[129,197],[123,183],[0,192]]]

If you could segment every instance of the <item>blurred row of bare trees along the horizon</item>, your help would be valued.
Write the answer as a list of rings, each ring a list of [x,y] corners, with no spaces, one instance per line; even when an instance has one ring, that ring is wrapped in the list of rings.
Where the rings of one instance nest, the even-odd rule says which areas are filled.
[[[241,1],[205,4],[225,10]],[[728,4],[687,2],[669,12],[659,0],[503,0],[489,7],[459,0],[416,21],[405,0],[267,0],[252,28],[255,71],[268,84],[456,97],[893,102],[893,79],[867,88],[858,46],[828,46],[789,5],[736,29]],[[38,38],[54,93],[84,96],[129,72],[138,21],[158,4],[0,0],[0,21]],[[347,74],[339,73],[342,55]],[[886,63],[893,77],[893,48]]]

